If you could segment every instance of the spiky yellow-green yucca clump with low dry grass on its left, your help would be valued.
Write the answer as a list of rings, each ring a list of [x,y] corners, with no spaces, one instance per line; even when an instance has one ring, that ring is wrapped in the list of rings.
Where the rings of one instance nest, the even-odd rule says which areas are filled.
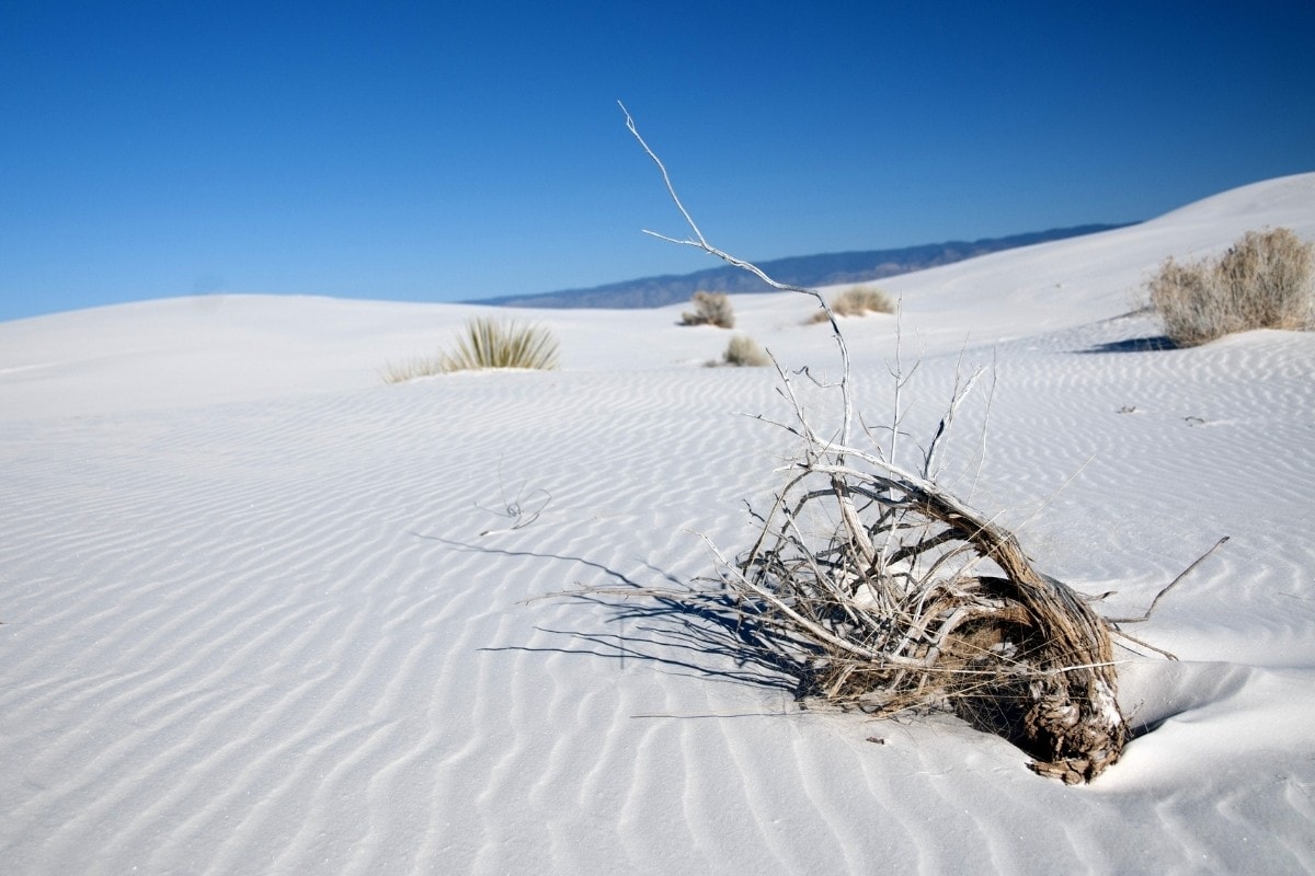
[[[400,365],[387,364],[384,382],[398,383],[417,377],[489,368],[552,370],[558,368],[558,340],[542,326],[522,326],[476,317],[456,339],[456,351],[417,357]]]

